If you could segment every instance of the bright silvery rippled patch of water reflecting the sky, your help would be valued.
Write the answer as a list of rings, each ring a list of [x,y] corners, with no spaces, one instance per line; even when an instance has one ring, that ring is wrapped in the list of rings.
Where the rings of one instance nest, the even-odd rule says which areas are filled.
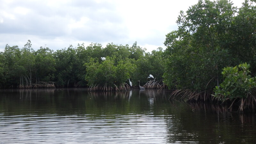
[[[165,124],[162,116],[146,115],[100,115],[98,119],[92,115],[2,115],[0,140],[3,143],[10,139],[18,143],[136,143],[138,140],[158,143],[164,142],[164,133],[168,131]]]

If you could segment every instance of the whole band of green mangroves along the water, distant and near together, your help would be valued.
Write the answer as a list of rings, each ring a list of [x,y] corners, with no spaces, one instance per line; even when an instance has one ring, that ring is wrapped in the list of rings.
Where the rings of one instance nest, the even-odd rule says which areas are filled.
[[[127,91],[139,88],[140,81],[146,89],[174,89],[170,100],[179,96],[220,103],[228,111],[254,111],[255,1],[245,0],[237,8],[231,1],[199,0],[180,11],[176,23],[178,29],[166,35],[166,49],[152,52],[137,42],[104,48],[78,44],[55,52],[48,47],[35,51],[30,40],[21,49],[6,44],[0,52],[0,87]]]

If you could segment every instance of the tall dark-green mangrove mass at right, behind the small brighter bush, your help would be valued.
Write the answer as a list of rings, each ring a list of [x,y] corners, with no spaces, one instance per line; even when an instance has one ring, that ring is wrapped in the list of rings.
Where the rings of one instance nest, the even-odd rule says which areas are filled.
[[[178,89],[173,95],[184,94],[190,101],[214,100],[215,97],[225,102],[232,100],[240,103],[240,110],[244,107],[243,98],[250,95],[251,102],[247,104],[255,107],[255,94],[252,94],[255,88],[249,90],[244,87],[249,84],[247,80],[251,75],[247,76],[248,66],[243,64],[246,62],[251,65],[250,74],[253,77],[256,73],[254,4],[246,0],[237,9],[226,0],[199,0],[186,13],[180,11],[178,30],[167,34],[164,42],[167,46],[164,82],[168,87]],[[236,65],[244,67],[242,72],[236,70]],[[229,70],[231,67],[235,67],[235,71]],[[241,76],[236,77],[239,79],[237,81],[229,75]],[[234,78],[236,80],[233,81]],[[254,83],[253,78],[250,82]],[[234,88],[240,86],[240,90],[244,91],[239,90],[240,93],[234,96],[232,92],[238,91]]]

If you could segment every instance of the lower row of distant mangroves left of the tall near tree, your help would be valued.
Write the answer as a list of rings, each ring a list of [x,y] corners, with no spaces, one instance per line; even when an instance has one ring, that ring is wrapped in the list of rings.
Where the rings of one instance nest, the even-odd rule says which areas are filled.
[[[111,43],[105,48],[101,44],[87,47],[78,44],[56,52],[47,47],[35,51],[30,40],[21,49],[7,44],[0,53],[0,86],[86,87],[96,84],[119,87],[129,84],[129,78],[133,85],[138,85],[138,80],[145,84],[149,74],[162,82],[162,55],[162,48],[149,53],[137,46],[137,42],[131,47]]]

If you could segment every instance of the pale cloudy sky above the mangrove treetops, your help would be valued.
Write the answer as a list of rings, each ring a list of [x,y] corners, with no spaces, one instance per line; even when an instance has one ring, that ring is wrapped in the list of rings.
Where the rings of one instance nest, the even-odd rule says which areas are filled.
[[[232,0],[231,0],[232,1]],[[0,52],[31,41],[56,51],[84,43],[132,44],[165,49],[180,10],[198,0],[0,0]],[[233,0],[240,7],[244,0]]]

